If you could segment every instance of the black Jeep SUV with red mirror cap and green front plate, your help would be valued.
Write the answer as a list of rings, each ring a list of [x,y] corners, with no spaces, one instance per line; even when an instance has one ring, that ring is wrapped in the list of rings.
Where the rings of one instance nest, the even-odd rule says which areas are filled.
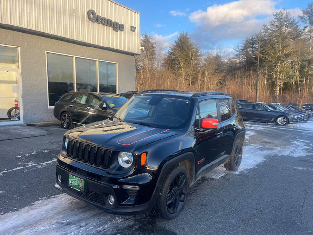
[[[146,90],[111,118],[67,131],[55,187],[112,214],[173,219],[188,188],[224,164],[238,169],[245,127],[221,92]]]

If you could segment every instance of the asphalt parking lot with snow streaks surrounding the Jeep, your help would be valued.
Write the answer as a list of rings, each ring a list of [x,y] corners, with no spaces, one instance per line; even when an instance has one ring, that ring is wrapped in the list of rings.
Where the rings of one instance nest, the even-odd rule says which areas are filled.
[[[245,126],[239,170],[218,167],[196,182],[171,221],[110,215],[56,190],[59,126],[0,135],[0,234],[313,234],[313,118]]]

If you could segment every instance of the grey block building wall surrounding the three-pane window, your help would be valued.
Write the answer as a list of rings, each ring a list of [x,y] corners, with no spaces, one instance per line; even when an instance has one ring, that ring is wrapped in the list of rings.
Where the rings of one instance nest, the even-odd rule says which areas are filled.
[[[46,51],[117,63],[117,93],[135,90],[132,55],[0,28],[0,44],[20,47],[24,123],[56,120],[48,108]]]

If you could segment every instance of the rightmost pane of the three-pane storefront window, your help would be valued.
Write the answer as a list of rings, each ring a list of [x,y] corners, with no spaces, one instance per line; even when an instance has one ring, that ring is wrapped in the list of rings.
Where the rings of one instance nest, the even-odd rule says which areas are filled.
[[[116,64],[99,61],[99,91],[116,93]]]

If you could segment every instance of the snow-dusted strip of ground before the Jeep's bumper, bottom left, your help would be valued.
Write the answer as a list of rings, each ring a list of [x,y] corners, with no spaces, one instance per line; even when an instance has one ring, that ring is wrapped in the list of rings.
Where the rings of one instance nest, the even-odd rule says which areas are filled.
[[[40,200],[19,211],[0,215],[0,234],[112,234],[133,223],[134,217],[116,217],[67,194]]]

